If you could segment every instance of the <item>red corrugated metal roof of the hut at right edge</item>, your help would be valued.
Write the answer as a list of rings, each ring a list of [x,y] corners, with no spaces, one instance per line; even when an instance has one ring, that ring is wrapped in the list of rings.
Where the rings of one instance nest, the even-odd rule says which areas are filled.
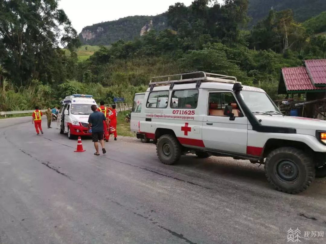
[[[302,67],[282,68],[278,94],[306,92],[326,92],[326,59],[305,60]]]

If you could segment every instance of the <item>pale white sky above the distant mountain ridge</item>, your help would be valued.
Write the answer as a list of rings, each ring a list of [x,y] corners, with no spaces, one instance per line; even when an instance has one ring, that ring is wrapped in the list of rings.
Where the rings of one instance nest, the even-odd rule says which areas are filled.
[[[182,2],[189,6],[193,0],[60,0],[62,8],[77,33],[88,25],[117,20],[133,15],[157,15],[170,5]],[[223,0],[219,0],[223,2]]]

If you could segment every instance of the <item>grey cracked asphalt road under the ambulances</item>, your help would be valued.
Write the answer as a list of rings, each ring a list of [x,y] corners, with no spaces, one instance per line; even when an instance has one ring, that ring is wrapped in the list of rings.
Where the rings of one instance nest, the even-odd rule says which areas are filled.
[[[77,141],[45,122],[37,136],[30,117],[0,120],[1,244],[289,243],[290,228],[326,232],[325,179],[289,195],[263,166],[196,156],[167,166],[131,138],[101,156],[84,138],[74,153]]]

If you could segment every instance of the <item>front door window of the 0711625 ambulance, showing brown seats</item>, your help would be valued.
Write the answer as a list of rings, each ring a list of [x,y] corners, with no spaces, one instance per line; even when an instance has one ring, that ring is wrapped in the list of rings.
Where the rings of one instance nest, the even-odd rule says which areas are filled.
[[[224,109],[226,105],[232,106],[234,117],[243,117],[243,114],[231,92],[216,92],[209,94],[208,115],[210,116],[226,116]]]

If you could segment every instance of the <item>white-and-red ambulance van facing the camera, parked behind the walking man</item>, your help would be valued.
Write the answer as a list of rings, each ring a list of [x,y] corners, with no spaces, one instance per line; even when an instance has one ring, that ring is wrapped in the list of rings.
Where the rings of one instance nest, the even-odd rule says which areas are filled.
[[[87,129],[93,104],[97,105],[92,95],[74,94],[66,97],[59,112],[60,134],[67,133],[69,139],[91,136],[92,133],[87,133]]]

